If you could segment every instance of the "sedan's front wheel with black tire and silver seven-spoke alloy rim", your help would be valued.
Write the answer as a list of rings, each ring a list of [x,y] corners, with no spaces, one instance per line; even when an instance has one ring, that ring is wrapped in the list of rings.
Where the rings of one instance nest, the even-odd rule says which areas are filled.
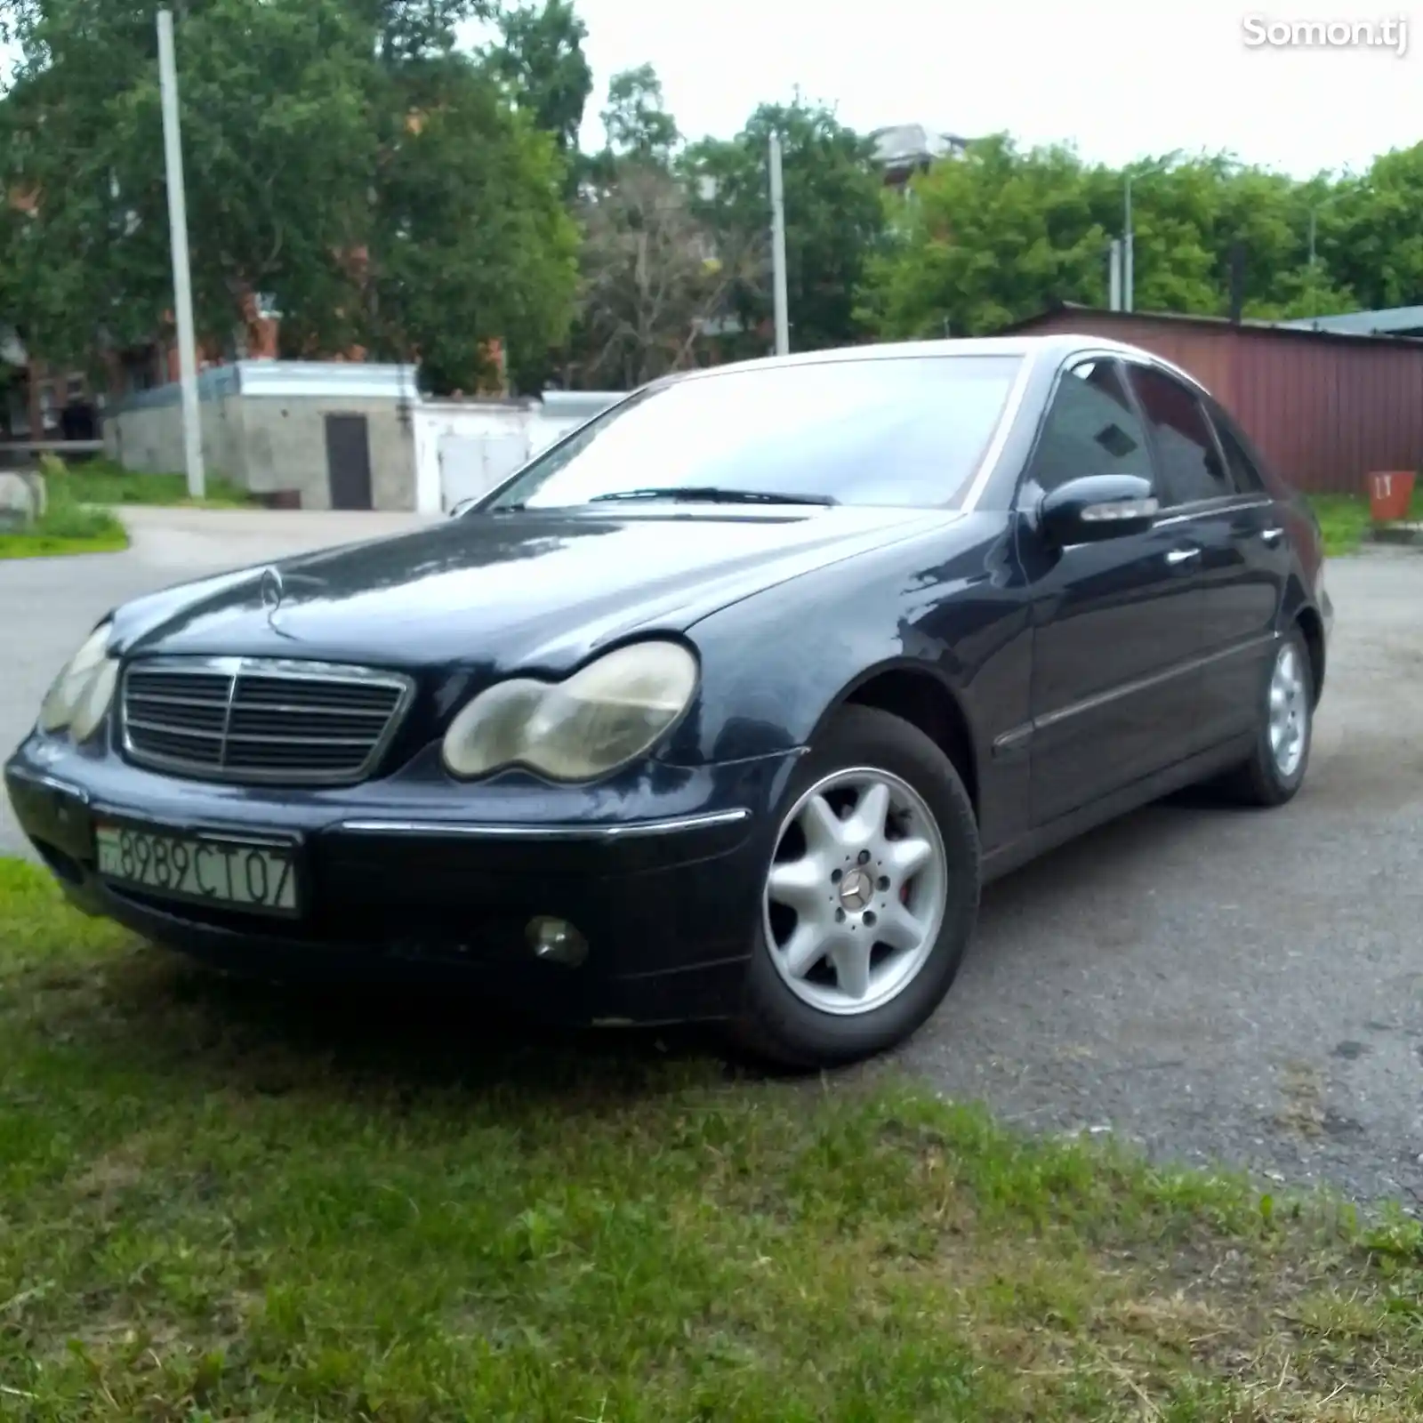
[[[871,824],[879,804],[875,785],[889,797],[884,828],[865,841],[872,854],[869,848],[855,852],[852,831]],[[841,804],[847,795],[852,800]],[[820,805],[813,805],[817,797]],[[838,821],[825,822],[825,808],[837,804]],[[828,850],[811,848],[803,832],[807,824]],[[793,841],[800,842],[800,857]],[[925,847],[922,868],[911,871]],[[788,865],[795,894],[808,896],[804,915],[788,911],[790,928],[787,905],[774,899],[784,892],[777,885]],[[820,874],[827,867],[830,878]],[[815,1069],[857,1062],[902,1042],[953,983],[978,918],[979,887],[978,822],[949,758],[918,727],[888,712],[844,707],[801,760],[777,811],[744,1009],[733,1025],[739,1043],[766,1062]],[[859,896],[869,891],[874,898],[857,912]],[[845,911],[842,904],[852,908]],[[805,938],[798,941],[803,925]],[[804,955],[813,953],[815,925],[824,925],[824,942],[837,943],[835,955],[797,978],[793,946],[804,942]],[[867,932],[847,941],[847,925],[848,932]],[[868,929],[887,936],[892,931],[895,943],[875,941],[864,949],[874,939]],[[916,929],[922,931],[918,942],[905,948]],[[840,958],[840,946],[852,962]],[[867,955],[868,969],[857,951]],[[855,998],[859,988],[865,992]]]

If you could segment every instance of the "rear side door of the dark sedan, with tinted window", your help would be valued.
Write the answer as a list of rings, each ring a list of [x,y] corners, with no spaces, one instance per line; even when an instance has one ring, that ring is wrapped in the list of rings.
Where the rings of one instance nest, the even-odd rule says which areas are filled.
[[[1130,379],[1174,527],[1201,549],[1201,716],[1194,748],[1248,731],[1289,572],[1288,534],[1225,413],[1155,366]]]

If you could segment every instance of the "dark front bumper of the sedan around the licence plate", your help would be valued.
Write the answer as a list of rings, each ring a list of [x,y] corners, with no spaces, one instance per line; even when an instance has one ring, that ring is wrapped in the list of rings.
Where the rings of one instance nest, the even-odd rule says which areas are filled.
[[[460,980],[562,1022],[727,1017],[740,1002],[794,756],[642,767],[626,783],[457,787],[417,758],[347,791],[181,781],[108,748],[31,736],[4,768],[26,835],[68,898],[219,968],[277,979]],[[280,919],[117,887],[94,821],[282,835],[302,914]],[[528,925],[568,921],[586,961],[538,959]]]

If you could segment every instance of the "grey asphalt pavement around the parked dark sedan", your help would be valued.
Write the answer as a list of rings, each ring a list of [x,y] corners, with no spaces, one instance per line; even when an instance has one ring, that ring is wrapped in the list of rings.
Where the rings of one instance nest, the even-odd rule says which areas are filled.
[[[125,554],[0,564],[0,746],[115,602],[416,522],[144,509]],[[1299,798],[1153,807],[992,887],[905,1066],[1035,1131],[1423,1202],[1423,556],[1336,561],[1329,581]],[[0,852],[23,852],[4,804]]]

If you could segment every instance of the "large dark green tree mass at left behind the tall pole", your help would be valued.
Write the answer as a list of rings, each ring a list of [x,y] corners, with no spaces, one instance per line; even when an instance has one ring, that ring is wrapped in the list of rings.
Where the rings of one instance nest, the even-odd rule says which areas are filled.
[[[154,0],[23,0],[0,102],[16,324],[81,363],[149,342],[171,275]],[[576,233],[554,142],[455,51],[468,0],[189,0],[179,21],[196,324],[258,293],[300,351],[423,351],[470,386],[484,343],[566,329]]]

